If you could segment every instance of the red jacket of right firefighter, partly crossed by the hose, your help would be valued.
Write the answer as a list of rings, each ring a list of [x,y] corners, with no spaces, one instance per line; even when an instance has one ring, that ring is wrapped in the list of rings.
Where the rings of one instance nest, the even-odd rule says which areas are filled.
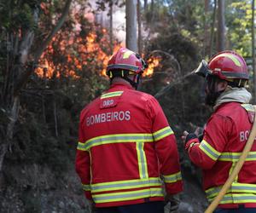
[[[189,158],[203,169],[203,187],[212,201],[228,179],[247,142],[254,118],[250,104],[229,102],[220,105],[207,121],[203,140],[186,144]],[[256,204],[256,143],[253,144],[236,181],[220,202],[221,206]]]

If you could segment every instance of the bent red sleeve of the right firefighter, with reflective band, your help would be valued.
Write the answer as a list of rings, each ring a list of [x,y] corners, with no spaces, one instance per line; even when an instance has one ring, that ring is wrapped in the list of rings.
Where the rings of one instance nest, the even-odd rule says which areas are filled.
[[[202,169],[211,169],[229,141],[233,122],[230,118],[213,115],[204,131],[201,143],[191,144],[188,153],[191,161]]]

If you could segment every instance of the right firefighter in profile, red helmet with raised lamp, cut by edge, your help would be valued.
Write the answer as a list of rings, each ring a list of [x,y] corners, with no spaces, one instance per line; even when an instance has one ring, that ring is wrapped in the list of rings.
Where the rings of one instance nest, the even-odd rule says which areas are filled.
[[[201,137],[183,132],[185,150],[203,170],[203,187],[211,202],[228,179],[251,131],[254,109],[247,64],[234,51],[223,51],[209,63],[202,60],[195,73],[207,80],[206,104],[213,107]],[[201,138],[201,139],[200,139]],[[214,212],[256,212],[256,144],[240,173]]]

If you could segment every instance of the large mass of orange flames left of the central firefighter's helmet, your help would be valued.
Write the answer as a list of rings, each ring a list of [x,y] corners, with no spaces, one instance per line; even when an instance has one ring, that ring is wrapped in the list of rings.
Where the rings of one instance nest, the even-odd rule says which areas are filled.
[[[119,48],[120,44],[114,43],[113,51]],[[106,76],[106,67],[111,55],[103,49],[109,49],[106,29],[102,29],[101,39],[97,37],[96,32],[90,32],[84,38],[73,34],[69,39],[59,33],[44,51],[35,72],[40,78],[60,78],[61,76],[80,78],[79,75],[88,69],[86,66],[97,67],[100,64],[102,70],[99,71],[99,74]],[[65,58],[63,65],[54,63],[56,51],[59,51],[60,55]]]

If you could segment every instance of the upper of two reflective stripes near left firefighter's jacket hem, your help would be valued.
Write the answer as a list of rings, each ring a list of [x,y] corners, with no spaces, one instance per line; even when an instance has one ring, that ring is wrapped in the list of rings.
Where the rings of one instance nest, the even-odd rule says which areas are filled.
[[[91,184],[91,193],[99,193],[106,191],[115,191],[123,189],[133,189],[138,187],[160,187],[162,183],[160,178],[151,177],[148,179],[137,179],[127,181],[110,181],[104,183]]]

